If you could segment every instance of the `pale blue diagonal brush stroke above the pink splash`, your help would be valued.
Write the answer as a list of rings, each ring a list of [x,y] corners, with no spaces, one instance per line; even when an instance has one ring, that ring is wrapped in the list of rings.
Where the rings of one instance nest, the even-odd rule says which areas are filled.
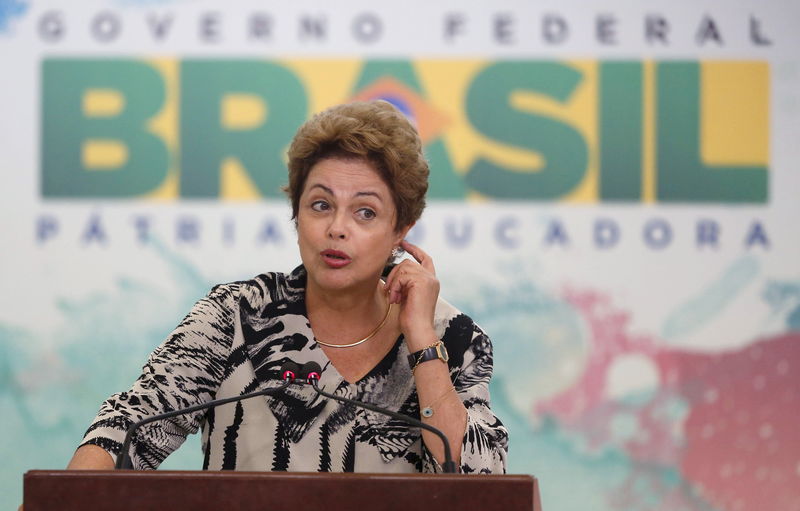
[[[667,316],[661,337],[673,340],[711,321],[753,282],[758,271],[758,260],[753,256],[742,257],[733,263],[715,282]]]

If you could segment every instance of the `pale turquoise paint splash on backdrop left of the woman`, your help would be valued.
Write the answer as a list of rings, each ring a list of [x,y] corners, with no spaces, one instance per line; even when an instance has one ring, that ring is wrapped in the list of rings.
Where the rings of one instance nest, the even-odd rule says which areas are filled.
[[[63,319],[55,338],[0,325],[0,494],[15,508],[22,474],[64,468],[100,403],[130,387],[147,355],[210,289],[196,268],[154,242],[167,265],[163,287],[117,277],[112,291],[57,299]],[[167,300],[162,289],[176,289]],[[170,456],[165,469],[202,466],[199,435]]]

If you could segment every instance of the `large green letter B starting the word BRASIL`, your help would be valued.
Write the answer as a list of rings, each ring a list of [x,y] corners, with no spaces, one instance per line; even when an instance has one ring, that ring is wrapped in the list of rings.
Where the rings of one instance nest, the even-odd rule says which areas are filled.
[[[123,98],[119,112],[87,116],[86,95],[111,90]],[[129,60],[47,59],[42,67],[42,195],[58,198],[129,197],[159,186],[169,158],[164,142],[146,131],[164,102],[156,71]],[[115,168],[84,167],[90,140],[124,146]]]

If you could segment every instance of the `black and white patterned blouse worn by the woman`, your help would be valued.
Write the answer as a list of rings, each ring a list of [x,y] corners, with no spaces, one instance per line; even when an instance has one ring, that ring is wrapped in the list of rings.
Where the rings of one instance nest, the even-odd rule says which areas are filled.
[[[397,340],[366,376],[345,381],[314,342],[305,308],[305,269],[267,273],[214,287],[149,357],[133,387],[100,408],[83,444],[112,456],[135,421],[211,399],[279,386],[291,360],[315,361],[320,386],[419,418],[408,348]],[[508,433],[489,408],[492,346],[472,320],[444,300],[435,312],[450,377],[467,409],[464,473],[504,473]],[[218,406],[144,426],[131,447],[133,466],[154,469],[202,428],[203,468],[333,472],[437,472],[418,428],[319,397],[312,388]]]

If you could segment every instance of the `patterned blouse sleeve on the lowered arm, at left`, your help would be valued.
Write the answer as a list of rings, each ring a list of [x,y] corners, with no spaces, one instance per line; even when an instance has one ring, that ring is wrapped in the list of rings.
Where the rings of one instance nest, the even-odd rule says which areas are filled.
[[[233,343],[236,292],[235,284],[220,285],[198,301],[150,354],[131,389],[103,402],[81,445],[102,447],[116,460],[133,423],[214,399]],[[131,443],[133,467],[157,468],[197,432],[203,417],[204,411],[199,411],[140,428]]]

